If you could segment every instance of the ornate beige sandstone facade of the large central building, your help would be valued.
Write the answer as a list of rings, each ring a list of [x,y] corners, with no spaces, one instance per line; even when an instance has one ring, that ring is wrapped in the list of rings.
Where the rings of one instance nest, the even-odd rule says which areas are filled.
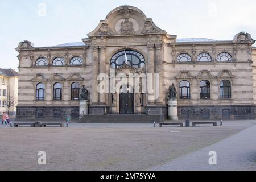
[[[19,43],[17,119],[35,119],[38,115],[40,118],[42,113],[43,118],[64,118],[79,110],[79,100],[71,99],[74,82],[89,90],[89,114],[119,114],[120,95],[98,93],[97,76],[106,73],[111,77],[111,60],[124,50],[137,52],[143,57],[144,66],[116,67],[115,75],[159,74],[159,97],[152,100],[147,93],[134,93],[133,114],[162,113],[167,117],[168,88],[174,83],[180,119],[255,119],[256,49],[251,47],[254,42],[245,32],[230,41],[177,39],[136,7],[117,7],[81,43],[53,47],[35,47],[29,41]],[[79,57],[80,64],[73,64],[74,57]],[[210,97],[202,99],[200,82],[204,80],[210,83]],[[230,82],[230,91],[229,96],[222,97],[224,80]],[[189,98],[180,95],[181,81],[189,82]],[[38,100],[39,83],[45,88],[44,98]],[[56,83],[63,86],[61,100],[54,99]],[[55,114],[58,117],[54,116],[56,110],[60,110],[60,114]]]

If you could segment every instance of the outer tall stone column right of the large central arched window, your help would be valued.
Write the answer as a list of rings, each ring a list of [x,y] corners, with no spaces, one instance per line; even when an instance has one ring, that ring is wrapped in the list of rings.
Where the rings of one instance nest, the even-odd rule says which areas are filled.
[[[163,61],[163,48],[162,44],[156,45],[156,73],[159,74],[159,97],[156,100],[156,104],[163,104],[163,69],[162,69],[162,61]],[[158,86],[158,85],[156,85]]]

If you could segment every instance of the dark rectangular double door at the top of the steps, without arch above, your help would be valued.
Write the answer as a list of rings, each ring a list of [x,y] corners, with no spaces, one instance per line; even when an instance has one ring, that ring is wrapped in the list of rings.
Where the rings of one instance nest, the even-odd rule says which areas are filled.
[[[133,94],[120,94],[120,114],[133,114]]]

